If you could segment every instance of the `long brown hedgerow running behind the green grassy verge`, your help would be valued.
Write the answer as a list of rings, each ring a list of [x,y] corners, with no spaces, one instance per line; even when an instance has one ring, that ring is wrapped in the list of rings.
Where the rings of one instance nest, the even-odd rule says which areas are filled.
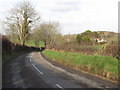
[[[96,45],[97,46],[97,45]],[[100,48],[95,48],[94,45],[90,44],[65,44],[65,45],[54,45],[49,46],[49,49],[57,51],[67,51],[67,52],[79,52],[86,55],[101,55],[101,56],[112,56],[116,59],[120,59],[120,49],[118,42],[113,44],[105,44],[103,46],[99,45]]]

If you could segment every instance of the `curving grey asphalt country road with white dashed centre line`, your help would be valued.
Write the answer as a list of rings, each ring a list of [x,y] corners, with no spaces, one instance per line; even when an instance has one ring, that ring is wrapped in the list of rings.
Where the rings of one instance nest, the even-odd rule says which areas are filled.
[[[69,72],[55,66],[40,52],[21,55],[3,67],[3,88],[117,88],[116,84]],[[92,77],[92,76],[91,76]]]

